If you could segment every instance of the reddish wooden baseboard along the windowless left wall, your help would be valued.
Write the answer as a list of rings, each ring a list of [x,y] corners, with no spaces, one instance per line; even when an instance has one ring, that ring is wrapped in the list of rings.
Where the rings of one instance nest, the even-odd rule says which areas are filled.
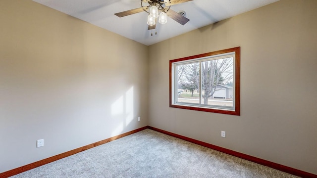
[[[71,156],[71,155],[73,155],[73,154],[76,154],[76,153],[79,153],[79,152],[88,150],[88,149],[90,149],[90,148],[93,148],[93,147],[96,147],[96,146],[99,146],[99,145],[102,145],[102,144],[105,144],[105,143],[107,143],[107,142],[110,142],[110,141],[113,141],[113,140],[122,138],[122,137],[124,137],[124,136],[129,135],[129,134],[134,134],[134,133],[143,131],[143,130],[148,129],[148,128],[149,128],[149,127],[146,126],[146,127],[143,127],[143,128],[140,128],[140,129],[136,129],[136,130],[133,130],[133,131],[124,133],[124,134],[119,134],[119,135],[117,135],[117,136],[113,136],[113,137],[107,138],[107,139],[105,139],[105,140],[98,141],[98,142],[96,142],[96,143],[92,143],[92,144],[89,144],[89,145],[86,145],[86,146],[83,146],[83,147],[80,147],[80,148],[76,148],[76,149],[74,149],[74,150],[70,150],[70,151],[67,151],[67,152],[65,152],[65,153],[61,153],[61,154],[52,156],[52,157],[50,157],[50,158],[46,158],[46,159],[44,159],[44,160],[37,161],[37,162],[35,162],[35,163],[31,163],[31,164],[28,164],[28,165],[25,165],[25,166],[22,166],[22,167],[19,167],[19,168],[15,168],[15,169],[12,169],[12,170],[9,170],[9,171],[0,173],[0,178],[8,178],[8,177],[10,177],[10,176],[14,176],[14,175],[23,173],[23,172],[25,172],[25,171],[28,171],[28,170],[37,168],[37,167],[39,167],[39,166],[43,166],[43,165],[48,164],[48,163],[51,163],[51,162],[53,162],[53,161],[57,161],[57,160],[59,160],[59,159],[62,159],[62,158]]]

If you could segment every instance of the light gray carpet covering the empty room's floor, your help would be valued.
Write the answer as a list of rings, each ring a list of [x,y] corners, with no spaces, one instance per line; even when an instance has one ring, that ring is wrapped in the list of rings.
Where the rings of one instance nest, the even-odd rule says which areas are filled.
[[[298,178],[152,130],[11,178]]]

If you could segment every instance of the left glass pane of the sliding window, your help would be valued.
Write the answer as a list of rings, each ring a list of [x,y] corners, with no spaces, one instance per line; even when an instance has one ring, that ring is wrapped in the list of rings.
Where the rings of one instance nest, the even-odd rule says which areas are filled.
[[[176,102],[199,104],[199,62],[177,65]]]

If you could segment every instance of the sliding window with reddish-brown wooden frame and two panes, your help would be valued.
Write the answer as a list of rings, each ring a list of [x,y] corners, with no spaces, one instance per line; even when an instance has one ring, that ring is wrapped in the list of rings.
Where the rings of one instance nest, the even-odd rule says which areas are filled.
[[[240,47],[169,61],[169,106],[240,115]]]

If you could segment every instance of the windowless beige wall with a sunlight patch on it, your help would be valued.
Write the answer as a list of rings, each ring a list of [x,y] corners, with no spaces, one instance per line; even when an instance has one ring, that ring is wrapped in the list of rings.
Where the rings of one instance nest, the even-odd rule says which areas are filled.
[[[147,126],[147,50],[32,0],[1,0],[0,173]]]

